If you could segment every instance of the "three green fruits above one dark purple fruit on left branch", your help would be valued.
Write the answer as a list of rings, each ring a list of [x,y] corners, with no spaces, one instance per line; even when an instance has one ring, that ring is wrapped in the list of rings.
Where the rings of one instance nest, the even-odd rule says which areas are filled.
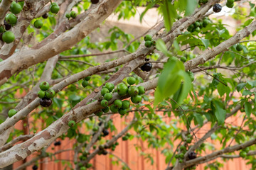
[[[53,101],[51,98],[55,96],[55,91],[50,89],[50,84],[47,81],[41,82],[39,85],[40,91],[38,91],[38,98],[40,99],[40,105],[43,107],[49,107]]]

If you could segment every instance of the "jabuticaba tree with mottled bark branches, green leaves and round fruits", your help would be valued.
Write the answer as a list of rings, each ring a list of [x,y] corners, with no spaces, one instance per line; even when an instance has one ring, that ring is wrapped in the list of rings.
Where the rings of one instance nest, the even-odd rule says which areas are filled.
[[[110,15],[129,20],[139,6],[140,21],[151,8],[163,20],[137,38],[114,26],[90,40]],[[38,169],[40,159],[72,150],[71,169],[90,169],[97,154],[130,169],[114,149],[138,138],[161,150],[166,169],[239,157],[255,169],[255,12],[234,0],[2,0],[0,168],[38,152],[18,167]],[[240,23],[235,34],[215,13]],[[130,122],[117,130],[113,114]],[[73,148],[49,152],[64,139],[75,139]]]

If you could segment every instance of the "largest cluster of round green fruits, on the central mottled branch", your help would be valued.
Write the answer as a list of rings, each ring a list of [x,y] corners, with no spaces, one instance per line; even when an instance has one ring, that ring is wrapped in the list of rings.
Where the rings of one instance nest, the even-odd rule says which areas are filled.
[[[129,87],[124,84],[120,83],[117,84],[116,92],[119,94],[119,96],[125,96],[129,94],[131,96],[132,103],[139,103],[142,101],[142,94],[145,93],[144,86],[132,86],[135,84],[136,79],[134,77],[128,77],[127,83],[130,85]],[[95,113],[97,116],[101,116],[102,113],[107,113],[109,111],[112,111],[112,113],[119,113],[120,115],[124,115],[127,113],[127,109],[130,106],[129,101],[124,100],[121,101],[119,99],[115,100],[112,104],[112,106],[109,106],[109,101],[112,99],[112,91],[114,90],[114,84],[107,82],[105,86],[103,86],[102,90],[100,91],[100,94],[102,95],[103,99],[100,102],[102,108],[102,111]]]

